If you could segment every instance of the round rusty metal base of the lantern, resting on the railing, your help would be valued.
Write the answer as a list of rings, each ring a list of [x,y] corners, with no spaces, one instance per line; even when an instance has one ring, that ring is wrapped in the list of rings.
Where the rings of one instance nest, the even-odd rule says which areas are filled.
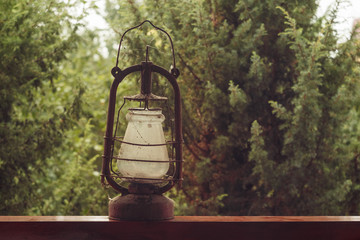
[[[109,218],[158,221],[174,218],[174,201],[159,194],[127,194],[109,201]]]

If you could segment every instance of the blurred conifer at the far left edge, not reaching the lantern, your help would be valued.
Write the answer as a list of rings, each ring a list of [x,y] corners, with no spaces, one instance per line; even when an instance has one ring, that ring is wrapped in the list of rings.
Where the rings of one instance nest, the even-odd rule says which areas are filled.
[[[54,0],[0,3],[2,215],[24,215],[42,203],[46,159],[81,114],[81,88],[55,94],[60,63],[78,41],[68,7]]]

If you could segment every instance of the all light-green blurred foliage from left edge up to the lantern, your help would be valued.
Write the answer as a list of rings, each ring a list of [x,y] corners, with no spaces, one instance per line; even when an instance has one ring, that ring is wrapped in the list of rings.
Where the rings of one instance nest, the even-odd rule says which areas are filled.
[[[96,85],[84,84],[84,76],[91,74],[86,71],[89,56],[81,55],[84,47],[78,43],[92,39],[85,34],[91,40],[81,39],[77,33],[78,19],[69,14],[76,4],[0,3],[3,215],[106,212],[106,194],[99,188],[95,163],[102,139],[93,132],[95,123],[98,132],[103,124],[92,121],[106,110],[90,113],[92,106],[85,102]],[[75,50],[77,58],[69,55]],[[94,51],[87,54],[95,57]],[[101,104],[105,101],[97,105]]]

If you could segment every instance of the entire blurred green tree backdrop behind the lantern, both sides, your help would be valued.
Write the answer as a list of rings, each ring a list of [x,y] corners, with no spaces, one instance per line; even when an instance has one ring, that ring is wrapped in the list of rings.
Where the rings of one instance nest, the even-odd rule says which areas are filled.
[[[359,215],[360,45],[334,27],[342,1],[322,16],[315,0],[105,2],[105,29],[83,21],[96,1],[0,2],[1,215],[107,215],[110,70],[145,19],[170,33],[181,71],[177,215]],[[146,45],[170,67],[167,39],[144,25],[120,68]]]

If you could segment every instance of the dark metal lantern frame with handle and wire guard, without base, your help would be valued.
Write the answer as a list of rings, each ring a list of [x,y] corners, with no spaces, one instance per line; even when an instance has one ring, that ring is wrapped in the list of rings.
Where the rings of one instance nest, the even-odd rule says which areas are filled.
[[[120,49],[122,41],[125,37],[125,35],[136,28],[141,27],[144,23],[149,23],[152,27],[155,29],[165,33],[170,40],[171,44],[171,50],[172,50],[172,58],[173,58],[173,65],[170,69],[170,71],[165,70],[164,68],[157,66],[153,64],[152,62],[148,61],[148,48],[146,49],[146,61],[142,62],[139,65],[134,65],[131,67],[128,67],[124,70],[121,70],[118,67],[119,63],[119,55],[120,55]],[[134,96],[125,96],[124,97],[124,103],[121,105],[120,109],[118,110],[117,114],[117,121],[115,122],[115,113],[116,113],[116,93],[117,89],[120,85],[120,83],[130,74],[140,72],[141,73],[141,93],[134,95]],[[103,185],[110,185],[112,188],[114,188],[117,192],[121,193],[122,195],[127,195],[129,193],[133,193],[133,191],[127,187],[121,186],[116,179],[121,180],[157,180],[157,181],[163,181],[164,184],[158,187],[155,187],[151,189],[151,193],[153,194],[162,194],[168,190],[170,190],[176,183],[181,186],[182,181],[182,119],[181,119],[181,96],[180,96],[180,89],[179,85],[176,81],[178,76],[180,75],[179,70],[176,68],[176,62],[175,62],[175,52],[174,52],[174,46],[172,39],[170,35],[163,29],[155,26],[150,21],[145,20],[141,24],[130,28],[124,32],[120,39],[117,58],[116,58],[116,65],[111,70],[112,75],[114,76],[114,81],[111,85],[110,89],[110,96],[109,96],[109,105],[108,105],[108,115],[107,115],[107,124],[106,124],[106,133],[105,133],[105,142],[104,142],[104,154],[103,154],[103,162],[102,162],[102,175],[101,175],[101,182]],[[170,144],[174,151],[174,159],[169,159],[169,161],[152,161],[152,160],[142,160],[142,159],[120,159],[119,157],[114,156],[114,146],[115,142],[120,142],[121,144],[132,144],[132,145],[138,145],[138,146],[144,146],[144,147],[151,147],[151,146],[159,146],[159,144],[136,144],[136,143],[129,143],[122,140],[122,137],[116,136],[117,134],[117,127],[119,122],[119,113],[122,110],[123,106],[125,105],[127,100],[130,101],[139,101],[145,103],[145,108],[148,107],[148,103],[150,101],[161,101],[166,100],[167,98],[159,97],[151,92],[152,88],[152,73],[160,74],[161,76],[165,77],[168,82],[171,84],[173,88],[173,94],[174,94],[174,136],[171,141],[167,141],[165,144]],[[150,109],[151,110],[151,109]],[[114,125],[115,125],[115,131],[114,131]],[[164,144],[161,144],[164,145]],[[175,163],[175,172],[173,176],[171,176],[168,179],[151,179],[151,178],[133,178],[133,177],[124,177],[118,175],[116,172],[112,169],[112,161],[113,159],[121,160],[121,161],[139,161],[139,162],[152,162],[156,163],[159,162],[159,164],[163,164],[164,162]],[[167,183],[166,183],[167,182]],[[140,187],[141,188],[141,187]],[[137,189],[136,191],[141,190]],[[145,190],[147,191],[147,190]]]

